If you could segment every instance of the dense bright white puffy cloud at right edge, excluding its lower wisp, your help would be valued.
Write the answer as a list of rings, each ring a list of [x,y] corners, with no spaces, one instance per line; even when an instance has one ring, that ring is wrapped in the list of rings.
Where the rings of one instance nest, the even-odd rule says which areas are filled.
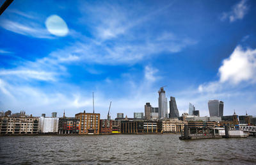
[[[219,68],[220,83],[238,84],[242,81],[256,82],[256,49],[243,50],[237,46]]]

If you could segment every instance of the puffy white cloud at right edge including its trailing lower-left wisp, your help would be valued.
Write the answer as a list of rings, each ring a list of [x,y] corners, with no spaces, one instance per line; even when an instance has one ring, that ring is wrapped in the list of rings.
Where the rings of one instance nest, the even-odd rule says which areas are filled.
[[[216,93],[225,88],[234,88],[238,84],[246,86],[256,83],[256,49],[243,49],[238,45],[230,57],[223,60],[218,75],[218,81],[200,84],[198,91]]]

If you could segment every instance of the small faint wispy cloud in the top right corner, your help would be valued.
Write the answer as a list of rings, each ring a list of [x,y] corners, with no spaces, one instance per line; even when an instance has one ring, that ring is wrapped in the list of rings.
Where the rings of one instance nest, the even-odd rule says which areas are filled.
[[[243,19],[244,15],[248,12],[249,6],[246,5],[247,0],[242,0],[232,7],[230,12],[224,12],[221,20],[229,19],[230,22],[234,22],[238,19]]]

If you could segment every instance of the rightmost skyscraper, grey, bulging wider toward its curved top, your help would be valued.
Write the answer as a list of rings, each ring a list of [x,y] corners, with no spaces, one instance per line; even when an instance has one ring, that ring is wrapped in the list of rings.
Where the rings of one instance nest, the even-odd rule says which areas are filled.
[[[209,100],[208,108],[209,108],[210,117],[212,117],[212,116],[222,117],[223,116],[223,107],[224,107],[224,103],[222,101]]]

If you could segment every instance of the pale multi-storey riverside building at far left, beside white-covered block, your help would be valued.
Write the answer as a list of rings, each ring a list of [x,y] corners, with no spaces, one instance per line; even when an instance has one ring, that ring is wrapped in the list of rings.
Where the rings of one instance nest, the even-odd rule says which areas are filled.
[[[38,134],[38,123],[39,118],[28,117],[24,111],[19,118],[0,117],[0,134]]]

